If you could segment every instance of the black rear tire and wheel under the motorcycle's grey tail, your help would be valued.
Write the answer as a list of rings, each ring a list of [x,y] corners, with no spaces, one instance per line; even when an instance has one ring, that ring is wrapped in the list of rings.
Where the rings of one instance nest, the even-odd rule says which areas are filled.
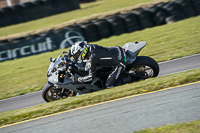
[[[136,60],[127,66],[126,71],[134,71],[134,73],[147,72],[148,78],[157,77],[159,74],[158,63],[148,56],[138,56]]]

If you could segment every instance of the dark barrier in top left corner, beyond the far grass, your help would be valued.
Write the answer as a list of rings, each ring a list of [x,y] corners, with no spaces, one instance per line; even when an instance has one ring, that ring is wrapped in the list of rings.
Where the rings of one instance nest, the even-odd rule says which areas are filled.
[[[79,9],[79,0],[36,0],[0,8],[0,27]]]

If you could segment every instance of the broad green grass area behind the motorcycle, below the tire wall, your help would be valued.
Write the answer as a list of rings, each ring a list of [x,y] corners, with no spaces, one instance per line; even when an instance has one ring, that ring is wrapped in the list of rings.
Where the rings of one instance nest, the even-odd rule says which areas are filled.
[[[140,55],[158,62],[200,53],[200,16],[130,34],[113,36],[97,43],[102,46],[122,46],[127,42],[147,41]],[[67,51],[68,49],[64,49]],[[49,57],[61,51],[43,53],[0,63],[0,99],[41,90],[47,83]]]

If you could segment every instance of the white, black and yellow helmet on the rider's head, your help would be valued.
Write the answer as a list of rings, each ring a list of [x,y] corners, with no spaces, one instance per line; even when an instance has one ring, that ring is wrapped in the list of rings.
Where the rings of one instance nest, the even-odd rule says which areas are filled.
[[[84,60],[88,53],[87,42],[76,42],[71,47],[71,55],[76,61]]]

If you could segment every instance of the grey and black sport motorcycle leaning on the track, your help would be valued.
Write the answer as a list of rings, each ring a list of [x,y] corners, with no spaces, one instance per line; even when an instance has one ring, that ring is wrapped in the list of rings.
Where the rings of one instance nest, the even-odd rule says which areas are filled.
[[[156,77],[159,74],[158,63],[148,56],[138,56],[147,42],[129,42],[122,46],[126,53],[126,69],[119,79],[118,85],[128,84],[147,78]],[[50,58],[47,72],[48,83],[42,89],[42,97],[46,102],[91,93],[105,89],[106,79],[112,67],[97,67],[97,76],[91,82],[74,84],[74,76],[85,76],[88,74],[87,60],[76,62],[68,57],[67,52],[62,52],[57,59]]]

